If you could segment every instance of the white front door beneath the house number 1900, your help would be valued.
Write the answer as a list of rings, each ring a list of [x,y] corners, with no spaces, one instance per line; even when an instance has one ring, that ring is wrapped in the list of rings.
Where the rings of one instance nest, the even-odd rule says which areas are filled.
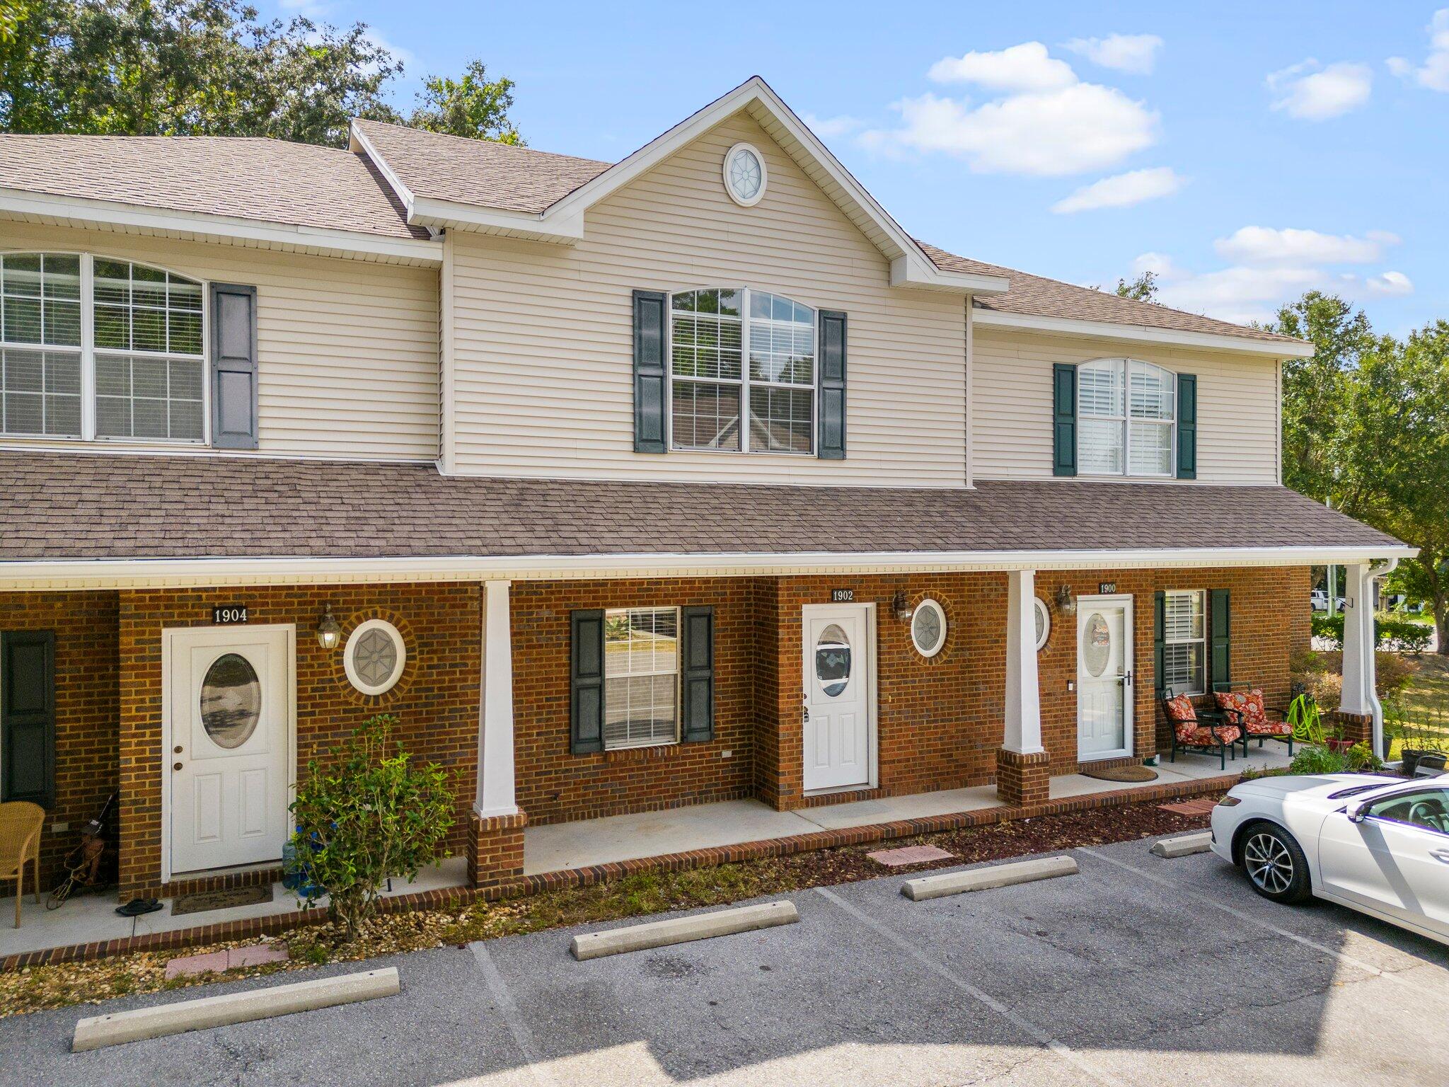
[[[1077,600],[1077,758],[1132,754],[1132,597]]]

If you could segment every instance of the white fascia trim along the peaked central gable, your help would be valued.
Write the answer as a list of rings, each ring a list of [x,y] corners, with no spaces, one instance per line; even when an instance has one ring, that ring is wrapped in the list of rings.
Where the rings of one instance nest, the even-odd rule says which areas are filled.
[[[585,181],[572,193],[551,204],[539,217],[540,225],[545,229],[552,228],[555,232],[564,232],[561,236],[574,236],[567,232],[578,229],[578,236],[582,236],[582,216],[585,210],[607,197],[610,193],[614,193],[620,187],[629,184],[645,171],[658,165],[662,159],[668,158],[690,141],[714,128],[726,117],[756,101],[764,106],[764,109],[767,109],[771,116],[774,116],[790,132],[791,136],[800,141],[810,155],[822,165],[826,174],[830,175],[830,180],[849,193],[855,201],[865,209],[865,213],[871,217],[871,220],[894,242],[897,251],[885,254],[891,258],[891,286],[932,287],[936,290],[953,290],[974,294],[1001,294],[1007,290],[1010,284],[1000,275],[968,275],[964,272],[948,272],[938,268],[932,259],[926,257],[920,245],[916,243],[916,239],[901,229],[900,223],[897,223],[885,212],[885,209],[875,201],[875,197],[872,197],[865,187],[851,175],[851,171],[840,165],[836,157],[830,154],[830,149],[819,141],[819,138],[794,114],[780,96],[771,90],[769,84],[758,75],[749,77],[745,83],[729,91],[722,99],[716,99],[704,109],[681,120],[668,132],[645,143],[627,158],[609,167],[609,170],[598,177],[591,181]],[[903,257],[904,261],[901,261]],[[900,262],[898,270],[897,262]]]

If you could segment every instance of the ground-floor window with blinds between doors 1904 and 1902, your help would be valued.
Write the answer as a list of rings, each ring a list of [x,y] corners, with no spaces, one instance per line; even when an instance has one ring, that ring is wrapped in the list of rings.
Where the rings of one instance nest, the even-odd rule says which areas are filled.
[[[680,609],[604,612],[604,749],[680,739]]]

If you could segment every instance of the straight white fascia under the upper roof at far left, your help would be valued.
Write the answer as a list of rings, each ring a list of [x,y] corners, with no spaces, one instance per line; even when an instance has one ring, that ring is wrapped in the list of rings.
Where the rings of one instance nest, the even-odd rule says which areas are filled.
[[[288,245],[301,249],[326,249],[342,257],[387,257],[416,264],[442,264],[442,246],[420,238],[383,238],[358,230],[262,223],[201,212],[152,210],[113,200],[85,200],[49,193],[29,193],[20,188],[0,188],[0,213]]]

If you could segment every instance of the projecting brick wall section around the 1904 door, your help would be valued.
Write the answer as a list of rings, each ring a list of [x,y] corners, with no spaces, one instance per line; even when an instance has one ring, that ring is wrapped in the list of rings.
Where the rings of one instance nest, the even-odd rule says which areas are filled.
[[[452,771],[458,822],[449,848],[467,845],[478,759],[480,587],[294,586],[217,590],[146,590],[119,594],[120,644],[120,896],[158,894],[161,886],[161,632],[210,626],[216,603],[245,604],[251,625],[297,628],[297,762],[325,755],[374,713],[398,717],[398,738],[419,759]],[[393,690],[356,691],[342,648],[323,651],[313,632],[323,606],[346,635],[365,619],[401,632],[407,664]],[[188,886],[194,880],[187,881]]]

